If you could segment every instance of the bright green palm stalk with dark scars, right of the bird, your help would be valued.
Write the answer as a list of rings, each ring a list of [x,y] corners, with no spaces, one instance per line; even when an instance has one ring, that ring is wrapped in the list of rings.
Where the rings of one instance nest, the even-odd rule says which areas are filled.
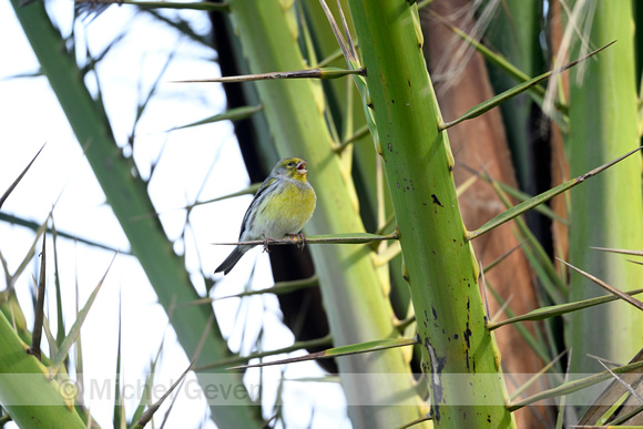
[[[511,427],[415,6],[351,0],[437,427]],[[486,377],[477,377],[486,375]],[[457,376],[462,382],[453,382]],[[460,378],[461,377],[461,378]]]

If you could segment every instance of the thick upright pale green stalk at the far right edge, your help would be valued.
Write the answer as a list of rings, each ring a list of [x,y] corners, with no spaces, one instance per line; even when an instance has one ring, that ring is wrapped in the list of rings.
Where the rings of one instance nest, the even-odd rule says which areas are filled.
[[[592,3],[592,2],[589,2]],[[572,176],[637,147],[636,82],[632,40],[632,3],[596,2],[589,42],[618,40],[598,61],[572,69],[570,136]],[[584,28],[580,25],[579,28]],[[571,58],[579,51],[572,51]],[[641,269],[618,255],[590,246],[643,248],[641,157],[633,156],[571,193],[570,263],[602,280],[629,289]],[[602,295],[579,274],[571,274],[570,300]],[[588,354],[627,361],[643,346],[643,314],[625,303],[578,311],[568,333],[572,372],[600,370]]]

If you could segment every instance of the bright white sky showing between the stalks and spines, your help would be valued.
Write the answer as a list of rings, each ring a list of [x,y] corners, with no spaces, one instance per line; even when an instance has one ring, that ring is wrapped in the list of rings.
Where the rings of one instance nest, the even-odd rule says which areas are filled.
[[[53,11],[55,22],[69,35],[73,3],[68,0],[47,0],[48,11]],[[99,79],[106,111],[114,135],[124,146],[132,131],[136,104],[143,100],[152,82],[156,80],[170,52],[175,61],[161,79],[157,95],[145,111],[136,127],[134,160],[139,172],[150,177],[151,165],[157,162],[150,182],[150,194],[161,221],[171,237],[180,238],[185,212],[175,210],[197,198],[208,200],[239,191],[248,185],[248,177],[238,152],[229,123],[210,124],[167,133],[173,126],[184,125],[225,109],[222,89],[216,84],[194,85],[170,83],[172,80],[208,78],[218,75],[213,61],[216,52],[196,42],[180,39],[176,31],[146,13],[135,13],[133,7],[111,7],[95,20],[74,27],[76,51],[99,54],[115,37],[125,33],[99,65]],[[180,14],[198,33],[210,31],[205,12],[163,11],[165,16]],[[126,251],[129,244],[111,208],[104,204],[104,195],[83,157],[81,147],[71,131],[64,113],[49,88],[45,78],[16,76],[38,72],[39,64],[24,38],[9,1],[0,1],[0,193],[13,182],[33,155],[47,142],[43,152],[28,175],[2,207],[3,213],[42,223],[52,205],[55,227],[113,248]],[[86,45],[85,45],[86,42]],[[86,60],[79,54],[80,63]],[[93,73],[85,79],[95,93]],[[205,185],[204,185],[205,183]],[[216,204],[200,206],[190,217],[192,228],[186,239],[177,242],[175,249],[184,253],[188,269],[198,293],[205,287],[198,266],[210,275],[231,251],[211,245],[213,242],[236,241],[243,214],[251,197],[238,197]],[[32,231],[0,222],[0,252],[13,273],[32,245]],[[53,285],[53,246],[48,238],[48,284]],[[41,242],[38,243],[40,248]],[[75,285],[79,305],[84,305],[100,278],[105,273],[112,252],[93,246],[74,244],[59,238],[58,257],[63,294],[67,329],[75,314]],[[255,267],[252,288],[265,288],[273,284],[267,256],[259,249],[248,253],[214,292],[217,296],[239,293],[249,280]],[[16,287],[22,309],[32,324],[32,274],[38,276],[38,265],[32,261]],[[4,276],[2,276],[4,278]],[[0,290],[6,288],[0,284]],[[119,297],[122,300],[122,349],[125,381],[143,380],[151,360],[161,344],[163,351],[155,382],[171,385],[187,367],[188,360],[180,348],[176,336],[166,328],[167,318],[156,304],[156,296],[137,261],[119,255],[98,296],[82,329],[84,377],[112,379],[116,361]],[[54,290],[48,290],[47,311],[55,330]],[[217,304],[220,326],[233,350],[251,351],[252,340],[264,324],[264,348],[275,349],[293,343],[292,334],[280,324],[276,297],[272,295],[244,299],[227,299]],[[235,320],[235,318],[238,318]],[[246,326],[242,341],[242,326]],[[45,347],[45,346],[44,346]],[[286,357],[286,356],[282,356]],[[275,401],[276,384],[284,367],[264,371],[266,389],[264,416],[269,415]],[[287,379],[316,378],[324,374],[310,362],[290,365],[285,369]],[[246,376],[248,384],[258,381],[258,370]],[[350,427],[346,418],[345,398],[341,389],[333,382],[288,381],[285,387],[284,413],[288,428]],[[288,402],[288,398],[296,404]],[[134,412],[136,400],[126,404],[126,415]],[[113,405],[111,400],[89,400],[92,415],[102,427],[111,427]],[[156,413],[156,425],[165,409]],[[212,428],[205,402],[180,397],[170,415],[169,428]]]

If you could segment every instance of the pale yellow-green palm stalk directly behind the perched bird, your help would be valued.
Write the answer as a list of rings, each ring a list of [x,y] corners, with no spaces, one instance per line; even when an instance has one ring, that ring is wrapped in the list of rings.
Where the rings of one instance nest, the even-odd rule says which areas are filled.
[[[276,0],[234,0],[231,11],[251,72],[306,67],[297,43],[295,12]],[[309,161],[317,210],[307,234],[361,233],[364,225],[325,123],[318,81],[257,82],[280,155]],[[310,246],[335,346],[396,336],[390,304],[381,288],[369,246]],[[355,427],[391,428],[420,417],[412,376],[401,350],[337,359]],[[382,386],[381,375],[387,377]],[[376,407],[360,407],[374,405]]]

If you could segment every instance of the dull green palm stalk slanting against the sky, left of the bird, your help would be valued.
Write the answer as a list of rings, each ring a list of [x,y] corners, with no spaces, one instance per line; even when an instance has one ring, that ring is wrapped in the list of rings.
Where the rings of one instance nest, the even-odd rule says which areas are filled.
[[[122,156],[102,104],[92,100],[84,86],[83,75],[73,55],[67,52],[65,42],[49,20],[43,3],[35,2],[23,8],[18,3],[18,0],[12,0],[16,14],[78,141],[85,147],[86,159],[130,241],[132,253],[145,270],[159,302],[171,314],[178,341],[187,356],[193,356],[202,333],[214,319],[211,319],[212,308],[175,306],[200,296],[190,282],[183,258],[174,253],[160,221],[149,216],[155,211],[146,193],[146,184],[132,175],[132,160]],[[215,325],[205,338],[195,366],[228,356],[226,343]],[[212,382],[212,376],[207,380]],[[226,375],[227,382],[235,385],[235,388],[243,386],[242,375]],[[212,407],[212,413],[215,422],[224,428],[255,427],[261,422],[259,410],[249,399],[245,400],[245,406]]]

